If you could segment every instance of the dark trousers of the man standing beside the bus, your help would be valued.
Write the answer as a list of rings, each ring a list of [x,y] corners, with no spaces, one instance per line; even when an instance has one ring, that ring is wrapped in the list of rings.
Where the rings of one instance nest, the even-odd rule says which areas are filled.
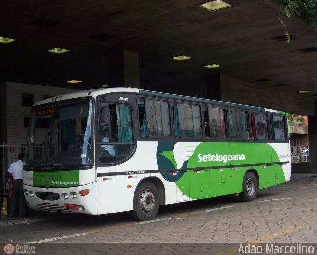
[[[9,209],[9,216],[15,214],[16,205],[19,202],[19,216],[25,215],[25,199],[23,194],[23,180],[13,180],[12,183],[12,198]]]

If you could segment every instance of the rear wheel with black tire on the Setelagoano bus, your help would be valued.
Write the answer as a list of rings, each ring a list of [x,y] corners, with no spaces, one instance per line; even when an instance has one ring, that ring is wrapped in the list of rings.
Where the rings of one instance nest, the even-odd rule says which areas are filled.
[[[244,175],[242,182],[242,193],[239,194],[239,199],[242,202],[253,201],[258,193],[258,180],[252,172],[247,172]]]

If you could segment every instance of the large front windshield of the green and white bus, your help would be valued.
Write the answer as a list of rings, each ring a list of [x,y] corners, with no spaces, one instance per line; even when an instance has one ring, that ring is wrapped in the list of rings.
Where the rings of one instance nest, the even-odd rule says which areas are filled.
[[[26,163],[29,166],[92,164],[92,100],[35,108],[30,120]]]

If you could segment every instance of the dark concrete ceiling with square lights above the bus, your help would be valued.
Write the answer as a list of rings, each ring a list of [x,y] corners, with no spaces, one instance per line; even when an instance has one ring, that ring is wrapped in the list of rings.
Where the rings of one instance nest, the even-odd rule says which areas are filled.
[[[16,41],[0,43],[0,81],[98,88],[108,84],[109,53],[129,50],[139,53],[141,88],[190,94],[219,72],[317,98],[316,30],[294,17],[284,29],[272,0],[227,0],[233,6],[215,12],[203,2],[2,0],[0,37]],[[56,47],[70,51],[48,52]],[[204,67],[214,63],[222,67]]]

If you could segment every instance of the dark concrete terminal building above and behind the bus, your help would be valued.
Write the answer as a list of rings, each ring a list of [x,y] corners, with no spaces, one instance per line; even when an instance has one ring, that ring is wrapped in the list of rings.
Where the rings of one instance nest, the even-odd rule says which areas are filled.
[[[303,171],[317,173],[317,30],[280,8],[274,0],[2,1],[1,194],[24,150],[31,106],[103,87],[308,116]]]

